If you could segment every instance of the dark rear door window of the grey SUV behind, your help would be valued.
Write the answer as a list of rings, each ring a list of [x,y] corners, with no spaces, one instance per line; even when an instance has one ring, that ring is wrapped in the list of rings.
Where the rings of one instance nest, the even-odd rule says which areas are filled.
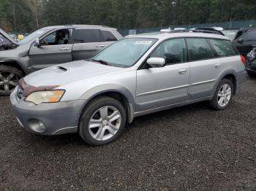
[[[99,42],[99,30],[97,29],[76,29],[74,44]]]

